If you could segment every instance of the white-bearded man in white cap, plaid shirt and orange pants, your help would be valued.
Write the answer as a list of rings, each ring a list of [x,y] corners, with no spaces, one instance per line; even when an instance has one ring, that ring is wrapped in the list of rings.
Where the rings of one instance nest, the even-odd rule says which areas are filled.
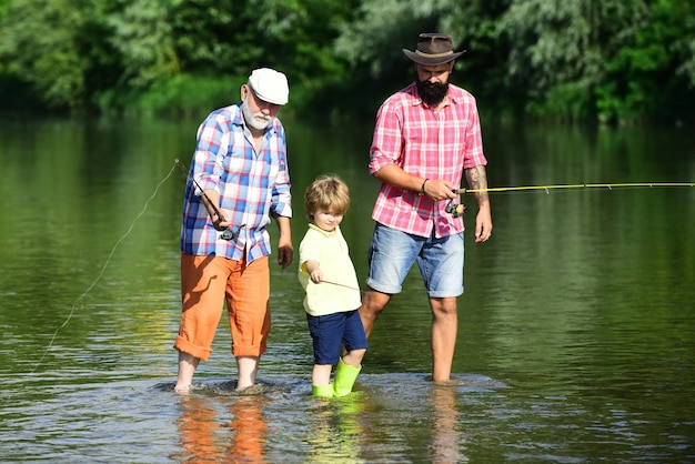
[[[285,132],[276,118],[288,99],[283,73],[256,69],[241,85],[241,102],[213,111],[198,129],[181,228],[179,393],[210,357],[225,300],[236,389],[255,383],[271,325],[271,218],[279,228],[278,264],[285,269],[293,259]]]

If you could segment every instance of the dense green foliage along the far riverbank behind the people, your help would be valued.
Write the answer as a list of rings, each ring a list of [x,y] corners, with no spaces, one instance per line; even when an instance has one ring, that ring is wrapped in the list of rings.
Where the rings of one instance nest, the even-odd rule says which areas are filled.
[[[298,114],[371,115],[424,31],[467,50],[452,80],[495,114],[695,117],[691,0],[0,0],[0,104],[203,111],[270,65]]]

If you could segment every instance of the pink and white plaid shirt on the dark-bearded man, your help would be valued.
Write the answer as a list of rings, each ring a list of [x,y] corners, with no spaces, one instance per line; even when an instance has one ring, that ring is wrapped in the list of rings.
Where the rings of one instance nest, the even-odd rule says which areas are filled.
[[[475,99],[453,84],[446,97],[436,113],[422,102],[414,82],[386,99],[376,114],[372,174],[395,164],[412,175],[460,185],[464,169],[487,164]],[[372,218],[419,236],[430,236],[433,230],[437,238],[463,232],[463,219],[447,214],[445,208],[446,201],[383,183]]]

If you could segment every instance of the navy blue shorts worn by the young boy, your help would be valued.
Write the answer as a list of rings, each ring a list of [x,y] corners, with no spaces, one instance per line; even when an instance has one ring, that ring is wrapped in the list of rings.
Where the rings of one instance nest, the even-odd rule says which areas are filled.
[[[306,314],[314,345],[314,364],[338,364],[341,344],[345,350],[366,350],[366,334],[357,310],[326,315]]]

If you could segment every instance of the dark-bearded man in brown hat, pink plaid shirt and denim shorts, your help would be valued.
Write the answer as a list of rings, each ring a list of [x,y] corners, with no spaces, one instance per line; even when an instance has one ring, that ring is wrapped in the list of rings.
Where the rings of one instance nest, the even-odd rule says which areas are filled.
[[[487,161],[475,99],[450,83],[463,51],[453,51],[449,36],[423,33],[415,51],[403,52],[416,80],[387,98],[376,114],[369,169],[382,184],[360,316],[369,336],[416,262],[432,312],[432,381],[445,382],[456,345],[456,300],[463,294],[463,213],[452,202],[465,175],[470,189],[479,190],[475,242],[486,242],[492,233]]]

